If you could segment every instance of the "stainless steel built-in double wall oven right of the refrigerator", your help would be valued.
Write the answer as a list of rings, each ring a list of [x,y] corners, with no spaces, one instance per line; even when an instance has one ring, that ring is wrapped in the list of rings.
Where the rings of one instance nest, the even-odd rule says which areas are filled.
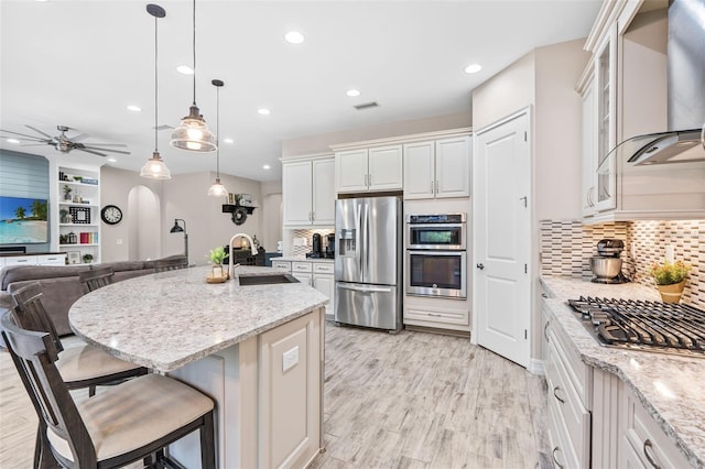
[[[467,297],[466,214],[406,216],[406,294]]]

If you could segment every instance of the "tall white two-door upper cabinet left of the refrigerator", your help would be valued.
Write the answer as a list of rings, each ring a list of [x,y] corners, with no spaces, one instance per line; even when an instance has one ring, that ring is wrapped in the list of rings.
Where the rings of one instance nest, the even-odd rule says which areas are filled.
[[[335,223],[335,159],[330,155],[282,163],[284,227]]]

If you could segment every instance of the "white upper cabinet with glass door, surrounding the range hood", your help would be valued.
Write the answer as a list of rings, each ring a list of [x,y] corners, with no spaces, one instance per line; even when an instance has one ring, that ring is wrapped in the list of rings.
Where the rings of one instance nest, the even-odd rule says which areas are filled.
[[[615,151],[633,137],[676,130],[668,124],[668,2],[658,7],[604,2],[585,44],[593,54],[577,84],[585,221],[705,217],[705,164],[636,164]]]

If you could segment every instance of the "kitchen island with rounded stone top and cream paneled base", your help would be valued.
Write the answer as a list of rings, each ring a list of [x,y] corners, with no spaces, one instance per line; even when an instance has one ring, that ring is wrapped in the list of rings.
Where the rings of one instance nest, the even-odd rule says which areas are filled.
[[[240,266],[206,283],[210,268],[126,280],[79,298],[75,334],[107,352],[169,373],[217,403],[218,467],[303,467],[322,446],[324,307],[302,283],[240,286]],[[170,448],[199,467],[197,435]]]

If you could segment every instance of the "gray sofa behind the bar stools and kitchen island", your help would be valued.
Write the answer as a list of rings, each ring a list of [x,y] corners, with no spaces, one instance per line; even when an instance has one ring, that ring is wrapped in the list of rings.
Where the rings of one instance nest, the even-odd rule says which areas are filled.
[[[173,255],[166,259],[184,258]],[[68,309],[85,294],[78,272],[94,266],[111,266],[113,282],[154,273],[153,261],[105,262],[90,265],[12,265],[0,269],[0,315],[13,307],[11,293],[33,282],[42,285],[42,304],[59,336],[73,334],[68,326]]]

